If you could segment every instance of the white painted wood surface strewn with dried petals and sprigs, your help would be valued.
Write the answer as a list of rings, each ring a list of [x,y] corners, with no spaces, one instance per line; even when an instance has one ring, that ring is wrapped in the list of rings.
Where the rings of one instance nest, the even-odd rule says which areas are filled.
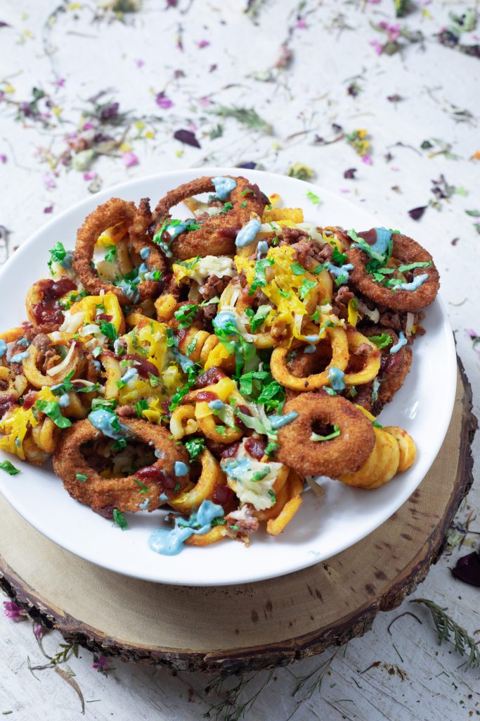
[[[167,9],[168,4],[173,6]],[[421,31],[425,39],[415,44],[400,40],[405,48],[394,56],[379,56],[371,45],[386,39],[371,22],[397,22],[389,0],[300,5],[266,0],[256,5],[258,17],[252,19],[243,12],[243,0],[144,0],[140,12],[120,22],[99,10],[95,0],[4,0],[0,21],[9,27],[0,28],[0,80],[5,92],[0,102],[0,224],[10,231],[10,249],[50,217],[45,208],[53,206],[53,213],[59,213],[89,193],[91,183],[107,187],[126,177],[206,162],[255,162],[275,172],[288,172],[297,162],[306,164],[320,186],[349,193],[353,202],[366,203],[376,212],[380,223],[401,228],[434,252],[478,412],[479,355],[466,329],[480,332],[480,237],[474,227],[479,218],[465,211],[480,207],[480,161],[474,159],[480,149],[480,63],[443,47],[435,37],[450,22],[448,13],[465,12],[468,4],[419,2],[399,23]],[[52,14],[58,7],[60,11]],[[390,32],[395,37],[397,28]],[[480,34],[462,33],[461,43],[477,42],[476,32]],[[284,43],[291,50],[291,62],[284,69],[269,70]],[[347,92],[354,76],[361,88],[356,97]],[[51,118],[44,118],[45,123],[32,117],[16,119],[14,103],[31,99],[34,86],[53,99]],[[54,158],[67,147],[65,136],[76,133],[87,99],[106,89],[102,102],[119,102],[120,110],[144,118],[145,127],[132,123],[126,140],[131,148],[115,151],[117,158],[96,159],[86,172],[97,176],[84,180],[83,172],[55,164]],[[171,100],[171,107],[162,107],[169,103],[161,97],[160,105],[155,102],[160,92]],[[387,99],[394,95],[402,99]],[[255,107],[271,123],[273,134],[215,117],[210,111],[217,104]],[[219,123],[223,134],[211,139]],[[368,130],[371,165],[344,140],[331,145],[314,142],[316,135],[326,140],[338,135],[332,123],[345,132]],[[122,122],[115,137],[127,124]],[[194,131],[201,149],[174,140],[180,128]],[[139,135],[142,138],[134,139]],[[429,156],[445,145],[420,149],[432,138],[448,143],[456,159]],[[135,162],[128,155],[122,159],[125,152],[135,154],[138,163],[125,167],[129,159]],[[344,179],[350,168],[357,169],[356,180]],[[440,199],[438,208],[427,208],[419,222],[413,221],[408,211],[435,200],[432,180],[441,174],[457,192]],[[325,218],[328,222],[341,223],[341,218]],[[6,247],[1,242],[4,260]],[[479,448],[477,438],[476,456]],[[480,509],[478,481],[460,521],[475,508]],[[480,519],[471,528],[480,531]],[[444,554],[415,594],[447,606],[472,634],[480,629],[480,590],[454,580],[449,569],[478,538],[468,535],[460,552]],[[422,626],[412,616],[403,616],[389,635],[389,623],[404,611],[414,612]],[[476,638],[480,639],[479,631]],[[54,653],[60,640],[58,634],[47,634],[45,648]],[[294,676],[310,673],[330,655],[278,669],[245,717],[286,721],[295,709],[296,721],[456,721],[480,715],[479,669],[459,668],[462,659],[453,647],[438,647],[428,612],[408,601],[397,611],[381,614],[366,637],[350,642],[345,654],[338,653],[320,693],[296,708],[291,696]],[[7,717],[15,721],[60,721],[79,715],[81,705],[73,689],[53,670],[35,672],[34,678],[28,657],[32,665],[45,660],[31,624],[0,616],[0,715],[12,712]],[[386,666],[361,673],[376,661]],[[197,721],[219,700],[205,694],[208,679],[199,674],[173,676],[114,660],[114,670],[106,677],[92,668],[92,655],[84,650],[68,665],[85,697],[86,716],[99,721]],[[397,666],[406,673],[404,680],[389,673]],[[252,693],[267,676],[262,672],[252,681]],[[247,687],[240,700],[250,695]]]

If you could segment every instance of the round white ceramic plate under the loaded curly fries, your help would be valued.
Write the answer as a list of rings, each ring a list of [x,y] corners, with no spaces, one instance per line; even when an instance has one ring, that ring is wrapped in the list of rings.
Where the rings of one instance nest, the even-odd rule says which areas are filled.
[[[180,183],[199,175],[223,174],[244,174],[265,193],[279,193],[285,205],[304,208],[306,221],[316,224],[363,230],[381,225],[397,227],[400,222],[399,218],[373,217],[324,188],[255,170],[201,168],[132,180],[83,200],[22,244],[0,273],[0,328],[13,327],[25,319],[28,288],[35,280],[47,277],[48,249],[57,241],[73,248],[76,230],[97,205],[112,196],[135,201],[148,196],[156,203]],[[312,205],[308,191],[320,195],[322,205]],[[178,215],[186,217],[180,206]],[[453,335],[439,299],[427,309],[425,329],[427,334],[415,342],[412,371],[380,417],[383,425],[399,425],[415,439],[415,464],[375,491],[325,482],[325,495],[317,498],[307,492],[299,513],[276,538],[261,531],[248,548],[227,540],[204,549],[185,547],[173,557],[162,556],[150,551],[147,543],[151,531],[160,525],[162,512],[129,514],[129,528],[121,531],[71,499],[50,464],[36,468],[12,458],[22,473],[11,477],[0,472],[0,491],[26,521],[55,543],[99,566],[135,578],[181,585],[226,585],[273,578],[307,567],[343,551],[384,523],[415,491],[438,454],[456,391]],[[0,454],[0,460],[4,457]]]

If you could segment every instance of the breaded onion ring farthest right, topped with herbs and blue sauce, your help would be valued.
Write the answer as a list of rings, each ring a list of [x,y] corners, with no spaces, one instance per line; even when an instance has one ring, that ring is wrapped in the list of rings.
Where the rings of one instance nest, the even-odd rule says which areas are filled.
[[[366,231],[365,233],[359,233],[358,236],[369,239],[371,233],[372,231]],[[419,243],[406,235],[392,233],[391,239],[394,242],[391,256],[396,260],[401,260],[402,263],[407,265],[415,262],[432,263],[432,265],[415,268],[412,271],[414,278],[415,275],[426,273],[428,278],[425,283],[415,291],[394,291],[391,288],[382,286],[367,273],[365,265],[369,259],[366,253],[358,247],[350,247],[347,251],[348,262],[354,266],[353,270],[350,270],[350,283],[367,298],[394,310],[417,311],[429,306],[435,300],[440,286],[438,270],[433,263],[432,256]]]

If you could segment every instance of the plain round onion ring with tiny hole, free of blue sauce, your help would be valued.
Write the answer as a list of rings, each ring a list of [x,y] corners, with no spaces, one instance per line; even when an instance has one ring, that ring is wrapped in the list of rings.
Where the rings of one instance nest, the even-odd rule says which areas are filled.
[[[280,428],[278,459],[302,475],[338,478],[357,471],[371,454],[375,434],[371,421],[339,396],[303,393],[284,405],[284,415],[299,415]],[[340,435],[330,441],[311,441],[314,423],[337,425]]]

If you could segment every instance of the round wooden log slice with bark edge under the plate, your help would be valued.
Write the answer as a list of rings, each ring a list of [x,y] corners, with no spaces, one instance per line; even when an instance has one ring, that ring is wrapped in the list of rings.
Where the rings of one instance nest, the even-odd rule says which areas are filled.
[[[124,660],[229,673],[291,663],[363,635],[425,578],[471,486],[475,430],[459,362],[445,443],[402,508],[327,562],[261,583],[191,588],[125,578],[56,546],[0,496],[0,585],[66,640]]]

